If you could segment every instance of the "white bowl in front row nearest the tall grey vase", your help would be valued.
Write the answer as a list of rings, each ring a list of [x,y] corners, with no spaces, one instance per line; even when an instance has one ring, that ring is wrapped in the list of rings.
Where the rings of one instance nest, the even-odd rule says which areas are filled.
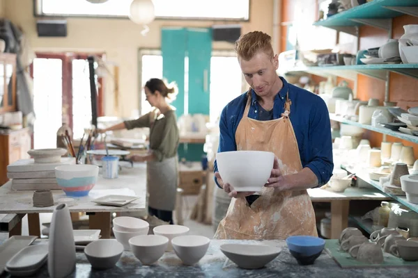
[[[113,268],[121,259],[123,246],[114,239],[100,239],[88,243],[84,254],[96,269]]]

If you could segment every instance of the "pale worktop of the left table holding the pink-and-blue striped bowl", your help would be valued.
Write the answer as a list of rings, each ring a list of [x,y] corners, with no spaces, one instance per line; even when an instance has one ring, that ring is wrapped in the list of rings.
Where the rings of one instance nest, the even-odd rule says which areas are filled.
[[[0,213],[51,213],[60,198],[68,197],[62,190],[52,190],[54,206],[33,206],[33,190],[12,190],[11,181],[0,187]],[[139,199],[123,207],[101,206],[91,200],[104,195],[136,195]],[[146,164],[134,163],[133,168],[122,167],[117,179],[104,179],[99,172],[98,181],[86,197],[74,197],[70,212],[124,212],[146,210]]]

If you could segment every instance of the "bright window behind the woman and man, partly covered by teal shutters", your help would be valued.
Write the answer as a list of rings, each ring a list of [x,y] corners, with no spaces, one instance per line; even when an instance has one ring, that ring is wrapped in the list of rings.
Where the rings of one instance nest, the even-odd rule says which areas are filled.
[[[141,74],[141,115],[150,111],[145,100],[144,85],[148,79],[162,78],[160,51],[141,50],[139,56]],[[185,113],[187,112],[187,57],[185,60]],[[226,76],[228,82],[226,81]],[[216,122],[222,109],[235,97],[242,94],[242,73],[235,54],[231,51],[215,51],[210,59],[210,122]]]

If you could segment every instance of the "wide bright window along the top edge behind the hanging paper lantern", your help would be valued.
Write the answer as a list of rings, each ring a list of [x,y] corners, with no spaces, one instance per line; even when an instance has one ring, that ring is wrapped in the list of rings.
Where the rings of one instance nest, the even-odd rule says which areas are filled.
[[[40,16],[122,17],[129,14],[132,0],[36,0],[34,9]],[[249,20],[249,0],[154,0],[157,19]],[[221,8],[222,7],[222,8]]]

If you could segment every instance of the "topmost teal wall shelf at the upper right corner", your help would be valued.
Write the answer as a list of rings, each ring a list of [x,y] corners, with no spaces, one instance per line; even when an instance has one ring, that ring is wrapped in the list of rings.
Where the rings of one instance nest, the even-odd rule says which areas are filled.
[[[342,13],[332,15],[325,20],[315,22],[315,26],[325,26],[336,31],[358,34],[362,25],[390,31],[392,18],[401,15],[418,17],[418,1],[416,0],[373,0],[369,3],[350,8]]]

